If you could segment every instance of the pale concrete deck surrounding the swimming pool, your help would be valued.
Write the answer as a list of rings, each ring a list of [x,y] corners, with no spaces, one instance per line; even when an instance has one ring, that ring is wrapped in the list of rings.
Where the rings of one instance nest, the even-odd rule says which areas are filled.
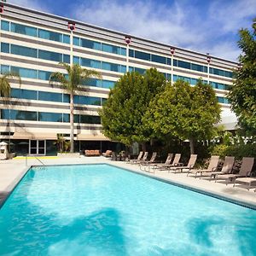
[[[256,193],[254,189],[245,189],[241,184],[237,184],[233,188],[233,184],[227,186],[223,181],[209,182],[207,178],[187,177],[186,173],[168,173],[165,171],[156,171],[155,173],[142,172],[137,165],[127,164],[122,161],[111,161],[105,157],[84,157],[79,158],[57,158],[57,157],[43,157],[43,158],[17,158],[13,160],[0,161],[0,206],[6,196],[19,183],[20,178],[24,176],[30,166],[48,166],[48,165],[71,165],[71,164],[101,164],[107,163],[113,166],[125,168],[132,172],[141,173],[150,177],[156,177],[168,183],[176,183],[183,187],[188,187],[202,193],[224,198],[230,201],[236,201],[242,205],[253,207],[256,209]]]

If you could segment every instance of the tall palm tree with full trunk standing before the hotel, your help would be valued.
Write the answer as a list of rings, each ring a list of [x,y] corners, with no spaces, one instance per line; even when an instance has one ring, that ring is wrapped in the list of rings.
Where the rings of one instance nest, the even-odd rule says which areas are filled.
[[[78,64],[72,66],[66,63],[60,63],[61,67],[67,70],[67,75],[63,73],[52,73],[49,77],[49,84],[61,84],[63,90],[66,90],[70,95],[70,152],[73,153],[73,96],[79,90],[79,85],[92,77],[101,78],[101,74],[95,70],[82,68]]]

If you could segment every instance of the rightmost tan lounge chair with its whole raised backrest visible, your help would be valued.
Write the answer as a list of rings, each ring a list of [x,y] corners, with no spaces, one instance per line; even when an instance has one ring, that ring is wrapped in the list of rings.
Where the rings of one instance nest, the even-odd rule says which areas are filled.
[[[250,177],[251,172],[253,170],[254,157],[243,157],[241,160],[241,167],[239,173],[237,174],[224,174],[224,175],[216,175],[215,178],[224,179],[226,181],[226,185],[228,182],[236,181],[237,177]]]

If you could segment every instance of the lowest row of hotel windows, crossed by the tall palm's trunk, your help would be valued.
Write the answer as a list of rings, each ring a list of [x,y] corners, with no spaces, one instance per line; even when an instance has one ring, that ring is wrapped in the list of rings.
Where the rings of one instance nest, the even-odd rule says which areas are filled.
[[[1,109],[1,119],[60,123],[68,123],[70,121],[69,113],[50,113],[15,109]],[[101,118],[97,115],[74,114],[74,123],[100,125]]]

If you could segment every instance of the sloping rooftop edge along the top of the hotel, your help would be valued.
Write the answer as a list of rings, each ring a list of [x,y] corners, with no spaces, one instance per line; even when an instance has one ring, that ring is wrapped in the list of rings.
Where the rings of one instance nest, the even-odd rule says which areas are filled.
[[[23,10],[26,10],[26,11],[32,11],[32,12],[37,13],[39,15],[48,15],[49,17],[52,17],[52,18],[61,19],[61,20],[67,20],[67,22],[68,21],[72,21],[75,24],[80,24],[80,25],[84,25],[84,26],[91,26],[93,28],[101,29],[101,30],[106,31],[106,32],[114,32],[114,33],[117,33],[117,34],[122,35],[124,37],[125,36],[129,36],[131,38],[137,38],[137,39],[146,41],[148,43],[160,44],[160,45],[165,46],[165,47],[169,47],[169,48],[173,47],[175,49],[181,49],[181,50],[187,51],[189,53],[195,53],[195,54],[203,55],[203,56],[206,56],[206,57],[208,56],[207,54],[199,52],[199,51],[195,51],[195,50],[191,50],[191,49],[185,49],[185,48],[177,47],[177,46],[174,46],[174,45],[171,45],[171,44],[160,43],[158,41],[154,41],[154,40],[148,39],[148,38],[140,38],[138,36],[133,36],[133,35],[125,33],[125,32],[119,32],[119,31],[115,31],[113,29],[108,29],[108,28],[102,27],[102,26],[96,26],[96,25],[92,25],[90,23],[85,23],[83,21],[73,20],[73,19],[67,18],[65,16],[53,15],[53,14],[46,13],[44,11],[39,11],[39,10],[35,10],[35,9],[29,9],[29,8],[26,8],[26,7],[23,7],[23,6],[19,6],[19,5],[13,4],[13,3],[6,3],[6,2],[3,2],[3,1],[1,1],[0,3],[2,3],[3,6],[9,6],[9,7],[17,8],[17,9],[23,9]],[[224,58],[216,57],[214,55],[210,55],[210,56],[212,58],[216,59],[216,60],[219,60],[219,61],[227,61],[227,62],[230,62],[230,63],[235,64],[235,65],[238,64],[237,61],[230,61],[230,60],[227,60],[227,59],[224,59]]]

